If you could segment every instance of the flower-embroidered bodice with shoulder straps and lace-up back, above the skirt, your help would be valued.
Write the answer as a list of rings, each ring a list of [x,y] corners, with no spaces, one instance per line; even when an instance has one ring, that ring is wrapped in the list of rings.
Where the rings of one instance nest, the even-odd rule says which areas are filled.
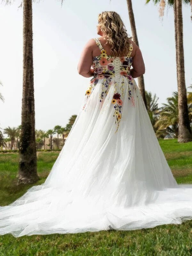
[[[93,57],[92,68],[94,70],[94,77],[115,76],[115,78],[118,80],[121,76],[126,76],[131,80],[132,76],[130,74],[130,68],[132,65],[132,43],[129,46],[129,53],[127,56],[113,57],[107,55],[107,52],[103,49],[103,46],[98,38],[94,39],[101,51],[101,54],[99,56]]]

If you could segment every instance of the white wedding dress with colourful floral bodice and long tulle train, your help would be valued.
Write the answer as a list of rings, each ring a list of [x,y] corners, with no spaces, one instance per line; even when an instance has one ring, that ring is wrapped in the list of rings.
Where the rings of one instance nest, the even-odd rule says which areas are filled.
[[[178,185],[125,57],[101,50],[64,147],[42,185],[0,207],[0,234],[134,230],[192,219],[192,185]]]

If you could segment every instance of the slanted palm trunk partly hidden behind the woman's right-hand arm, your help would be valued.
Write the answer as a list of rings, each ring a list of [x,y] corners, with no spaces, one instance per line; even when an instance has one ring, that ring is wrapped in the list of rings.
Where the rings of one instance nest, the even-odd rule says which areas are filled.
[[[133,42],[135,44],[137,44],[137,46],[139,47],[139,42],[138,42],[138,38],[137,38],[137,30],[136,30],[136,26],[135,26],[135,18],[134,18],[134,13],[133,13],[133,8],[132,8],[132,1],[131,0],[127,0],[127,7],[128,7],[128,12],[129,12],[129,20],[130,20],[130,25],[131,25]],[[139,90],[140,90],[140,94],[143,98],[143,101],[145,103],[145,107],[147,109],[147,101],[146,101],[146,97],[145,97],[145,83],[144,83],[143,75],[138,77],[138,87],[139,87]]]

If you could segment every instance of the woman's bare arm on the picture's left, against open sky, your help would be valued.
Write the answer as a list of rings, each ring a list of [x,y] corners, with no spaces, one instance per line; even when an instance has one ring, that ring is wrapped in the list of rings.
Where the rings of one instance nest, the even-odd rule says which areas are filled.
[[[91,77],[93,76],[92,66],[92,49],[93,49],[94,39],[90,39],[84,46],[81,53],[79,63],[77,65],[77,71],[81,76]]]

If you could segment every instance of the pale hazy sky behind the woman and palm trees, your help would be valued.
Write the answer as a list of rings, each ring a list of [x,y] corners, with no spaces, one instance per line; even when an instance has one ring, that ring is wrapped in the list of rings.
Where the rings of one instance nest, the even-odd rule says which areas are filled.
[[[145,62],[145,89],[156,93],[159,107],[177,91],[174,19],[166,7],[163,20],[158,5],[133,0],[140,50]],[[22,8],[20,1],[0,4],[0,127],[21,123],[22,99]],[[36,129],[65,126],[79,112],[91,78],[77,73],[86,42],[96,33],[102,11],[116,11],[131,35],[125,0],[59,0],[33,3],[33,56]],[[192,22],[190,7],[183,6],[183,36],[186,87],[192,84]],[[136,79],[137,81],[137,79]]]

